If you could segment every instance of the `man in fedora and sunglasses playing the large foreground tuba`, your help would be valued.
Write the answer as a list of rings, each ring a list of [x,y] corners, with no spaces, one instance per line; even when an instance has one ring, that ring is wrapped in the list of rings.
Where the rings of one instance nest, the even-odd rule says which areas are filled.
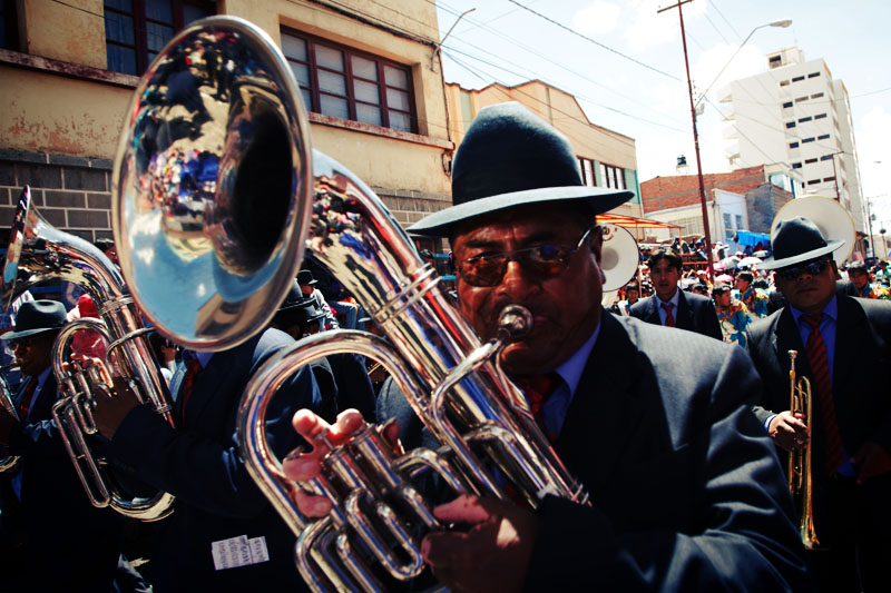
[[[568,140],[517,103],[480,111],[452,194],[453,207],[410,230],[450,237],[461,313],[480,338],[495,336],[506,305],[531,313],[531,332],[500,362],[518,384],[548,375],[551,389],[526,392],[530,409],[591,505],[542,494],[532,513],[459,496],[434,514],[470,528],[424,537],[433,574],[462,591],[807,591],[782,471],[750,409],[760,385],[745,354],[600,305],[594,217],[630,194],[584,186]],[[303,411],[294,421],[331,443],[356,424],[355,413],[334,426]],[[285,471],[317,475],[325,449]],[[310,516],[330,508],[295,496]]]

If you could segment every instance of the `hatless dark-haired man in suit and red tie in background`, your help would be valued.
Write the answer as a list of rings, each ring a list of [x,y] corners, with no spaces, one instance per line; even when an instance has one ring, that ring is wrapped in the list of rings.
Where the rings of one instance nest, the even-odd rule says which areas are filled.
[[[715,339],[724,339],[712,300],[678,289],[681,256],[657,249],[647,260],[649,277],[656,294],[640,299],[631,307],[631,317],[650,324],[678,327]]]

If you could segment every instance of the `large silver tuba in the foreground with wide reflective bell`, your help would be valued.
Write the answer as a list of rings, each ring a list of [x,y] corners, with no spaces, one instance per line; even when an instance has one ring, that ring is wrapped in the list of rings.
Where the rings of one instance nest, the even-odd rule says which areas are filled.
[[[498,338],[480,343],[374,192],[309,149],[300,89],[263,31],[228,17],[185,29],[141,79],[129,113],[115,164],[116,244],[135,298],[164,333],[205,348],[245,339],[274,315],[305,248],[386,336],[303,339],[264,365],[241,403],[242,454],[298,536],[297,565],[314,590],[382,590],[423,571],[418,531],[443,526],[414,485],[419,473],[501,498],[508,484],[533,507],[546,494],[587,503],[498,366],[506,340],[530,327],[528,312],[507,307]],[[156,290],[156,274],[178,278],[177,297],[193,300]],[[334,506],[309,521],[271,452],[265,411],[297,368],[347,352],[380,360],[442,446],[392,458],[366,427],[303,485]]]

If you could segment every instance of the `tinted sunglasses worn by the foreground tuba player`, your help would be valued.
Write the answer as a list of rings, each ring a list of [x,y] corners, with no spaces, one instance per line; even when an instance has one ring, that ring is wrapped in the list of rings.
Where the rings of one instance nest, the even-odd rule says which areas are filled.
[[[522,268],[540,280],[559,276],[567,267],[576,251],[585,244],[591,231],[590,227],[575,247],[546,243],[535,247],[525,247],[500,254],[481,254],[458,261],[457,273],[471,286],[498,286],[508,269],[509,261],[517,261]]]

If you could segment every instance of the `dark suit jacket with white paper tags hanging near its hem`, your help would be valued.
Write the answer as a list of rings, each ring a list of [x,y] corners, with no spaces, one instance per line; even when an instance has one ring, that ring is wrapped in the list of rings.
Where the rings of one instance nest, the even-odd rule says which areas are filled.
[[[238,404],[247,380],[274,353],[293,344],[276,329],[216,353],[198,375],[185,421],[170,428],[150,408],[134,409],[111,442],[119,461],[143,481],[176,495],[160,525],[151,557],[155,591],[303,591],[294,566],[295,536],[261,493],[238,448]],[[178,393],[184,369],[170,388]],[[276,393],[266,415],[267,438],[278,458],[298,444],[291,418],[319,411],[319,389],[307,367]],[[177,407],[178,408],[178,407]],[[213,542],[265,537],[270,561],[216,571]]]

